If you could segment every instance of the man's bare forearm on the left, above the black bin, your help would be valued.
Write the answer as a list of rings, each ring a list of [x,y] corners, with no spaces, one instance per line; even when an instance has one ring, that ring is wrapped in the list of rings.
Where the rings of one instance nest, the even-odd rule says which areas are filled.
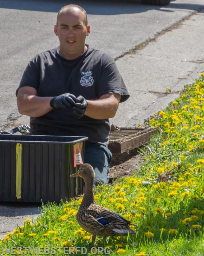
[[[52,108],[49,105],[52,97],[39,97],[30,94],[18,94],[17,105],[19,113],[30,117],[43,116]]]

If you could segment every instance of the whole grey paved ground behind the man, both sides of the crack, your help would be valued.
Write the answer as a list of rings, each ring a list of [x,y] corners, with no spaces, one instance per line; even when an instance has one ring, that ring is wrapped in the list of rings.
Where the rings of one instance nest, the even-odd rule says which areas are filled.
[[[166,7],[140,1],[38,1],[0,0],[0,130],[28,123],[20,116],[15,90],[27,62],[38,52],[58,45],[53,26],[65,4],[87,10],[91,34],[87,43],[108,52],[131,94],[110,122],[118,126],[142,124],[165,108],[204,71],[201,0],[176,0]],[[144,44],[144,42],[147,42]],[[143,44],[135,53],[131,51]],[[129,53],[131,52],[131,54]],[[171,90],[166,94],[166,89]],[[0,239],[33,213],[36,205],[0,205]]]

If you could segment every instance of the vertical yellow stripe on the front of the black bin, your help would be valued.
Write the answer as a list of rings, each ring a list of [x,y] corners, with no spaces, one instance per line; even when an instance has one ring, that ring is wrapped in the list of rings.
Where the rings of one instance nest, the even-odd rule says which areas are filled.
[[[22,144],[16,144],[16,197],[21,198]]]

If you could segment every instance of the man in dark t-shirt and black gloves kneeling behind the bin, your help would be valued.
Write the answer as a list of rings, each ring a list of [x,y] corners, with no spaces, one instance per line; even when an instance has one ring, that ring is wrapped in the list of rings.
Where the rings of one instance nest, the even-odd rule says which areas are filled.
[[[31,117],[30,134],[87,136],[84,162],[94,167],[96,186],[109,179],[108,118],[129,94],[115,61],[85,44],[90,25],[82,7],[62,7],[54,32],[60,45],[36,55],[24,71],[19,113]]]

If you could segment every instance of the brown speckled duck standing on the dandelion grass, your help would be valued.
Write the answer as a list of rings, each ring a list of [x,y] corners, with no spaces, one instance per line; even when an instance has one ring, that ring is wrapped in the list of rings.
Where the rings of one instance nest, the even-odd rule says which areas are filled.
[[[133,225],[129,220],[123,218],[117,212],[96,204],[94,200],[94,169],[90,164],[81,164],[79,170],[70,177],[82,177],[85,181],[86,189],[83,200],[77,213],[79,225],[92,234],[95,241],[98,236],[124,236],[135,234],[129,225]]]

